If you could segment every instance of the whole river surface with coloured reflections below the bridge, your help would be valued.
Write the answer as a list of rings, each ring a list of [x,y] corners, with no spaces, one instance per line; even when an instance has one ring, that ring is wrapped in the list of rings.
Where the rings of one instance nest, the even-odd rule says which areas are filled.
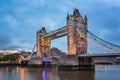
[[[96,65],[95,71],[0,67],[0,80],[120,80],[120,65]]]

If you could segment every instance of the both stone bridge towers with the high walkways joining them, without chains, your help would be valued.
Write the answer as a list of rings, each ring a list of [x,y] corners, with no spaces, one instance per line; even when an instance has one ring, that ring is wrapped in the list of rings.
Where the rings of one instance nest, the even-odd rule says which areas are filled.
[[[42,56],[49,53],[50,42],[53,39],[67,36],[68,55],[87,54],[87,37],[79,33],[76,28],[87,35],[87,17],[82,16],[78,9],[74,9],[73,15],[67,15],[67,26],[47,33],[45,27],[37,31],[37,53]],[[49,41],[46,43],[46,41]],[[43,44],[44,43],[44,44]],[[46,45],[47,44],[47,45]]]

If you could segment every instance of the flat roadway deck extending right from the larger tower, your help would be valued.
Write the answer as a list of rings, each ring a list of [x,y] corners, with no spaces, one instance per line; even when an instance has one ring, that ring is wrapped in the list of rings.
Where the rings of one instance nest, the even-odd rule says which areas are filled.
[[[79,57],[120,57],[120,53],[106,53],[106,54],[85,54]]]

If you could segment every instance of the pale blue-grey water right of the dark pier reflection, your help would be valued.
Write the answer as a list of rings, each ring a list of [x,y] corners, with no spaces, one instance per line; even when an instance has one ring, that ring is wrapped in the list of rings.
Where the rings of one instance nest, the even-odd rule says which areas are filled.
[[[97,65],[95,80],[120,80],[120,65]]]

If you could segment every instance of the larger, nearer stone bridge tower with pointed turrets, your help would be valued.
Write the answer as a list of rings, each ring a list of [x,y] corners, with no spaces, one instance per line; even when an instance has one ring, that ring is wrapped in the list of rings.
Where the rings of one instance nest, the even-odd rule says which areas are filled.
[[[76,27],[87,35],[87,17],[82,18],[77,8],[72,15],[67,15],[68,55],[87,54],[87,37],[80,34]]]

